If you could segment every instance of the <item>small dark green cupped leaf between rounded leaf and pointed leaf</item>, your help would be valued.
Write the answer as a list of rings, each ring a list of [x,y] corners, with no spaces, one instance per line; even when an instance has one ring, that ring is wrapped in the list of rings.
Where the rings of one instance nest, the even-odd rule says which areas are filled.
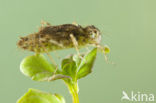
[[[61,66],[63,75],[70,76],[73,80],[76,79],[77,66],[75,61],[73,61],[71,57],[62,60]]]

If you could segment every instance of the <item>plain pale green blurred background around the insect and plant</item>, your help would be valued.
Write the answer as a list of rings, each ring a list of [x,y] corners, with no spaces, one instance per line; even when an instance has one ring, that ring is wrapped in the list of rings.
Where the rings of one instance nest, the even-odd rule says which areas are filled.
[[[59,93],[72,103],[61,80],[35,82],[19,71],[21,60],[33,53],[16,42],[36,32],[41,20],[94,24],[103,33],[102,44],[111,48],[109,60],[116,66],[98,53],[93,73],[79,81],[80,103],[121,103],[123,90],[156,95],[155,5],[155,0],[0,0],[0,103],[15,103],[28,88]],[[62,57],[69,53],[75,50],[58,51]]]

